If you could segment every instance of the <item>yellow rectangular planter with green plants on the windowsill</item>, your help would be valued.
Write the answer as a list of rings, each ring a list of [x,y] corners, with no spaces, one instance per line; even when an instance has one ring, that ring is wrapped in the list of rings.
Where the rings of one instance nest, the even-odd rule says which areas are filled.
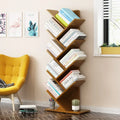
[[[111,45],[103,44],[101,46],[101,54],[120,54],[120,45],[115,43]]]

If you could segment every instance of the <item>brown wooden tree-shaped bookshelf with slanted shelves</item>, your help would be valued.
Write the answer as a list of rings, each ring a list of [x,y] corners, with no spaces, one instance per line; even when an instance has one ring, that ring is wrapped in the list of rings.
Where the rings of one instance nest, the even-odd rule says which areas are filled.
[[[47,93],[57,102],[59,107],[57,109],[46,109],[46,111],[52,111],[52,112],[62,112],[62,113],[72,113],[72,114],[82,114],[89,112],[89,110],[80,110],[77,112],[72,111],[72,100],[73,99],[80,99],[80,86],[85,82],[85,80],[80,80],[74,82],[71,86],[69,86],[67,89],[63,87],[62,84],[60,84],[60,80],[70,71],[70,70],[76,70],[79,69],[80,65],[84,62],[84,60],[76,60],[74,61],[70,66],[65,68],[59,60],[72,48],[79,48],[80,45],[84,42],[84,40],[74,40],[68,47],[65,47],[59,39],[70,29],[70,28],[80,28],[80,25],[85,21],[84,19],[74,19],[67,27],[64,27],[56,18],[55,15],[58,13],[57,10],[47,10],[51,15],[52,18],[60,24],[64,30],[57,36],[55,37],[51,32],[50,35],[54,38],[54,40],[58,43],[59,46],[63,48],[63,52],[57,56],[54,57],[49,50],[47,52],[49,53],[50,56],[63,68],[63,72],[55,78],[49,71],[47,73],[58,83],[58,85],[64,90],[59,97],[55,98],[49,90],[47,90]],[[73,11],[75,14],[80,16],[80,11],[79,10],[74,10]]]

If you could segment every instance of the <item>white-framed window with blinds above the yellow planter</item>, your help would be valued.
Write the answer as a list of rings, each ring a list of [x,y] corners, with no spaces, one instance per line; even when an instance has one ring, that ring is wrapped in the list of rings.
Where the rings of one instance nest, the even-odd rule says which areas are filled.
[[[120,0],[94,0],[94,55],[103,43],[120,45]]]

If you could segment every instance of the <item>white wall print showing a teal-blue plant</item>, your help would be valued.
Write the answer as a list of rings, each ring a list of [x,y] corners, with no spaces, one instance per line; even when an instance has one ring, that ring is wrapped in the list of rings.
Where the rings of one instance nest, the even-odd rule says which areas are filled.
[[[24,36],[38,37],[38,12],[24,13]]]

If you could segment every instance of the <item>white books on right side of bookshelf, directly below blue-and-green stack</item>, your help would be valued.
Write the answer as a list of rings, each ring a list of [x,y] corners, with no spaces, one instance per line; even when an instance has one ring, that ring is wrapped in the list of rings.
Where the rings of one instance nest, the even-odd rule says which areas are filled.
[[[70,29],[61,39],[60,42],[64,46],[68,46],[72,43],[74,40],[80,40],[84,39],[86,37],[86,34],[81,32],[79,29]]]

